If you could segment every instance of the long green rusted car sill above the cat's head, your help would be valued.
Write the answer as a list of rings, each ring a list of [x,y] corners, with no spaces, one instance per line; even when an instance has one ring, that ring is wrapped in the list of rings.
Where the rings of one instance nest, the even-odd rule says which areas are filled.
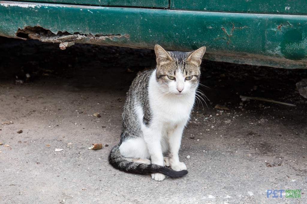
[[[206,46],[204,58],[215,61],[289,69],[307,65],[307,16],[0,1],[0,19],[0,35],[8,37],[37,26],[54,35],[84,34],[63,40],[68,42],[150,49],[160,44],[186,51]]]

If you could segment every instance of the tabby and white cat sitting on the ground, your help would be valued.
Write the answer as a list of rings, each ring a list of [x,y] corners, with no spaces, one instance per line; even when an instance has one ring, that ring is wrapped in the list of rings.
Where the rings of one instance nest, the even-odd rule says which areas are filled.
[[[161,181],[165,176],[179,178],[188,173],[178,152],[194,106],[206,47],[170,52],[155,45],[154,50],[156,69],[138,75],[127,93],[120,142],[112,148],[109,163],[124,172],[151,174]]]

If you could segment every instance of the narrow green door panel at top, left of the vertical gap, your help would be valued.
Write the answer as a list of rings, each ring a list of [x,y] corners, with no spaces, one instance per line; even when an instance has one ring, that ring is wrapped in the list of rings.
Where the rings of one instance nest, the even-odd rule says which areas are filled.
[[[169,0],[142,0],[142,1],[140,0],[82,0],[82,1],[30,0],[27,2],[51,2],[51,3],[68,3],[68,4],[78,4],[78,5],[99,5],[99,6],[137,6],[137,7],[155,7],[155,8],[169,7]]]

